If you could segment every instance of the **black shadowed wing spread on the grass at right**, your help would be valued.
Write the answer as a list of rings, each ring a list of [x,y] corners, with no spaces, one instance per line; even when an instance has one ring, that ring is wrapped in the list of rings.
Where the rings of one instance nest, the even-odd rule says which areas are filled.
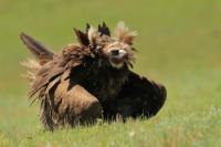
[[[165,86],[130,72],[128,81],[123,86],[118,97],[107,104],[107,118],[117,114],[126,117],[156,115],[165,104],[167,92]]]

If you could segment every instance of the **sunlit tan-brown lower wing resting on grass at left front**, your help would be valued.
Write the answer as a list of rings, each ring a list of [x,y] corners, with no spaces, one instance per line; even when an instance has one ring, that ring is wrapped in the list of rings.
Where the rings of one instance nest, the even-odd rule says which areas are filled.
[[[70,78],[62,80],[54,93],[48,93],[45,98],[41,99],[40,119],[45,128],[53,130],[65,123],[71,126],[77,123],[93,124],[96,118],[102,117],[98,99],[78,84],[70,88]]]

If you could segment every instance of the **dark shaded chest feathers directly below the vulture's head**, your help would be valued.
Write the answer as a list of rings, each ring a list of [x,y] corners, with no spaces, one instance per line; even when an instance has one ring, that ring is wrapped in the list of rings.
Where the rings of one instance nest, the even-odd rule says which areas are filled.
[[[101,102],[114,99],[127,81],[127,72],[97,70],[84,81],[86,90]]]

